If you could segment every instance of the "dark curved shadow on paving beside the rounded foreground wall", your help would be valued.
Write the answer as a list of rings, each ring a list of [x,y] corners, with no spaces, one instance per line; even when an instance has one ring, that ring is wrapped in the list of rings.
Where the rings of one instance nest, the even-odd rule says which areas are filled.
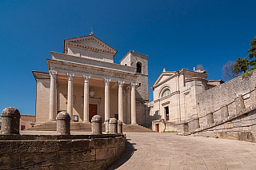
[[[122,164],[125,164],[126,161],[130,159],[131,156],[133,156],[134,151],[137,151],[137,149],[134,148],[134,143],[130,143],[127,140],[125,151],[122,153],[122,156],[120,156],[120,158],[117,161],[115,161],[114,164],[107,168],[107,170],[119,168],[120,166],[122,166]]]

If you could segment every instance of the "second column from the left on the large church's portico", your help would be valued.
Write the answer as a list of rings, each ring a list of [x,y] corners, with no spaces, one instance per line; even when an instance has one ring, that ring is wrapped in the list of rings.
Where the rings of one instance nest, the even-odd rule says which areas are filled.
[[[70,121],[73,121],[73,79],[74,73],[66,73],[68,78],[67,85],[67,113],[70,114]]]

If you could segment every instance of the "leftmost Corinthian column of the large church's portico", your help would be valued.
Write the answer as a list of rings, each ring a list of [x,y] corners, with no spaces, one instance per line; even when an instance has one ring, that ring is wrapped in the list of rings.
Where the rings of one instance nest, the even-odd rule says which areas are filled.
[[[56,115],[56,71],[50,70],[50,111],[49,111],[49,121],[55,120]]]

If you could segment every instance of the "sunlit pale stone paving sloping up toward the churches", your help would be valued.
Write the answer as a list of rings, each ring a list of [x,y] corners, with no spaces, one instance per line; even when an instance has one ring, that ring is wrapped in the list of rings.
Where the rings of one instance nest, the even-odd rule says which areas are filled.
[[[256,169],[256,144],[174,133],[126,132],[126,150],[108,170]]]

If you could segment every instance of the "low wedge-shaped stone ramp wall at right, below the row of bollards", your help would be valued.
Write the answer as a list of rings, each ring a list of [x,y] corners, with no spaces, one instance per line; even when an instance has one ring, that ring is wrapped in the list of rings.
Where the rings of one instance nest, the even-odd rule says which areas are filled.
[[[194,136],[256,142],[256,105],[194,130]]]

